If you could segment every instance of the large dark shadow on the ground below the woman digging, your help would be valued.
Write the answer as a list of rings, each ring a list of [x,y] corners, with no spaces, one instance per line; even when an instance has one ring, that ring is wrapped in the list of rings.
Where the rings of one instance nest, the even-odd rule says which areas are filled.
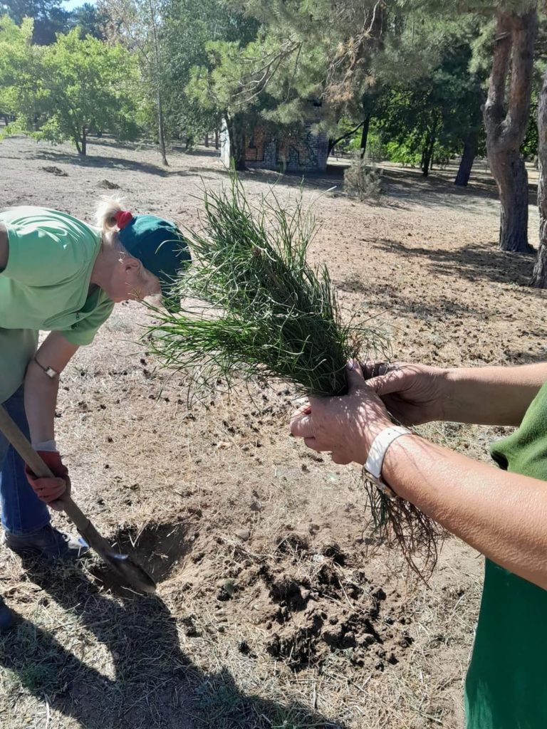
[[[344,729],[306,706],[242,693],[225,668],[206,674],[193,666],[181,650],[176,620],[160,597],[128,594],[116,600],[77,568],[25,566],[28,580],[49,596],[42,597],[39,609],[45,611],[55,601],[67,619],[51,632],[20,620],[0,637],[4,685],[12,687],[14,701],[24,689],[85,729]],[[191,630],[187,624],[188,636]],[[63,631],[63,641],[73,650],[55,638]],[[73,632],[73,641],[66,631]],[[97,653],[104,647],[114,669],[105,666],[101,673],[86,658],[100,665]],[[248,660],[252,664],[254,659]]]

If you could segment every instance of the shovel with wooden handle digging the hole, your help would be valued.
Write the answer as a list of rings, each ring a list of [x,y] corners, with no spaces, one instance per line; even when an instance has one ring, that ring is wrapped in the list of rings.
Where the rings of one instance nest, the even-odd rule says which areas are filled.
[[[53,473],[44,464],[38,453],[34,451],[31,444],[20,431],[18,426],[9,417],[5,408],[0,405],[0,432],[4,434],[9,443],[12,444],[15,451],[19,453],[23,461],[38,477],[52,477]],[[98,533],[87,516],[83,514],[79,507],[72,501],[70,496],[61,496],[58,499],[63,511],[74,523],[79,534],[88,542],[88,545],[96,551],[106,564],[112,569],[112,572],[120,582],[131,585],[132,588],[144,593],[155,592],[156,584],[150,574],[146,572],[139,564],[136,563],[129,555],[119,554],[106,542],[104,537]]]

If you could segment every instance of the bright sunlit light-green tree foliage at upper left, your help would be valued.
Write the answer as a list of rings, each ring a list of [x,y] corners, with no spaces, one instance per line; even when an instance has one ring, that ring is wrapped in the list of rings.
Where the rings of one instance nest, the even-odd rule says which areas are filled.
[[[71,139],[85,154],[90,130],[134,136],[131,95],[138,87],[134,58],[119,44],[105,44],[79,29],[39,47],[30,42],[31,21],[0,24],[2,101],[18,117],[16,128],[37,139]]]

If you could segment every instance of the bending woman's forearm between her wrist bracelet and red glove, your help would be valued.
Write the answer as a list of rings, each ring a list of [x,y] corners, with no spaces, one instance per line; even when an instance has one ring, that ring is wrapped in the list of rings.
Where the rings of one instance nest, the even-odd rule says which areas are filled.
[[[25,378],[25,410],[33,445],[55,438],[58,389],[58,377],[47,377],[36,362],[30,362]]]

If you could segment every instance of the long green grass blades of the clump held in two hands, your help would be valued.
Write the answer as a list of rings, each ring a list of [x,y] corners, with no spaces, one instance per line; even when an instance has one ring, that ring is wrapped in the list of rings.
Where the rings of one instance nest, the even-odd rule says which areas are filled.
[[[179,281],[193,304],[152,328],[163,361],[212,389],[262,373],[309,394],[344,392],[348,359],[383,340],[341,321],[327,269],[306,262],[314,225],[301,200],[288,212],[271,192],[252,209],[234,179],[229,192],[207,192],[205,208]]]

